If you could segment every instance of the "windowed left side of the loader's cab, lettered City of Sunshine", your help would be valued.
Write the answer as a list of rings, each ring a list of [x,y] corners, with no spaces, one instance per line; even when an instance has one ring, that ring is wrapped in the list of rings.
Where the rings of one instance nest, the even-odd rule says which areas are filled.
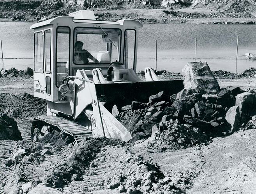
[[[34,34],[34,96],[52,100],[51,29]]]

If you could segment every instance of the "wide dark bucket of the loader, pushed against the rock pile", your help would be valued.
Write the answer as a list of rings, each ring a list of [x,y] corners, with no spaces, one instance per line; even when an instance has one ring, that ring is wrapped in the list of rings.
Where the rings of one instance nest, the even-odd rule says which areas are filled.
[[[121,109],[125,105],[131,105],[132,101],[147,103],[150,95],[161,91],[164,91],[169,98],[170,95],[177,94],[183,88],[183,80],[95,84],[97,99],[105,102],[104,107],[109,112],[115,104],[118,109]]]

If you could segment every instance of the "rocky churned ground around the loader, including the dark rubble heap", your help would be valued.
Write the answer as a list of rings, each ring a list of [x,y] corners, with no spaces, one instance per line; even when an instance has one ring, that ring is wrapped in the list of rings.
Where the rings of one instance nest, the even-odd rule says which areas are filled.
[[[0,78],[0,134],[6,128],[17,132],[18,126],[23,140],[19,134],[0,140],[0,193],[256,191],[256,118],[248,109],[241,110],[244,123],[227,117],[242,94],[255,88],[255,69],[213,72],[220,85],[216,94],[186,89],[171,98],[157,94],[148,104],[123,107],[116,116],[132,134],[129,143],[88,138],[75,146],[61,144],[58,133],[41,142],[28,140],[31,119],[46,114],[45,102],[29,95],[33,76],[12,73]],[[181,78],[156,73],[161,79]],[[143,78],[143,72],[139,75]],[[254,99],[249,91],[246,96]]]

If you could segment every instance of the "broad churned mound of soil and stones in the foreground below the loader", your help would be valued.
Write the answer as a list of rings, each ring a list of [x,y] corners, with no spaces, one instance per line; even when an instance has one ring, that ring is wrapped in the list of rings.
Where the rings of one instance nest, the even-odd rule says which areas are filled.
[[[107,138],[87,138],[74,147],[17,142],[5,162],[13,173],[3,186],[7,193],[38,184],[65,193],[181,192],[172,177],[130,147]]]

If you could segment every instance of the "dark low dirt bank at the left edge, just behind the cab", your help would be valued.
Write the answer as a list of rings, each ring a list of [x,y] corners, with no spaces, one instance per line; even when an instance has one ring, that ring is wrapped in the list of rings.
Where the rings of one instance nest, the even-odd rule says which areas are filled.
[[[14,118],[34,117],[46,114],[46,100],[27,93],[0,94],[0,109]]]

